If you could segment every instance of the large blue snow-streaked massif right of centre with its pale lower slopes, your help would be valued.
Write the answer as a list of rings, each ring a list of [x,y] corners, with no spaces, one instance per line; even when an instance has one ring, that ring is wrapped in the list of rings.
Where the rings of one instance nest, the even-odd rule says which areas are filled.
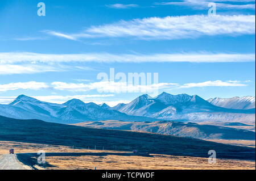
[[[128,104],[115,107],[118,111],[134,116],[154,117],[164,120],[188,121],[247,121],[255,123],[255,109],[234,110],[214,106],[197,95],[171,95],[163,92],[151,98],[139,96]]]

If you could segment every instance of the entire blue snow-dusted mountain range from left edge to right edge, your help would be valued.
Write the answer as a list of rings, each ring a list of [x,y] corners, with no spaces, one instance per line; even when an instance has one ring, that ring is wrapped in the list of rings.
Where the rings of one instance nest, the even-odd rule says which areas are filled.
[[[246,110],[218,107],[197,95],[171,95],[166,92],[155,98],[144,94],[128,104],[115,107],[105,103],[84,103],[79,99],[55,104],[20,95],[10,104],[0,104],[0,115],[68,124],[100,120],[229,121],[255,124],[255,107]]]

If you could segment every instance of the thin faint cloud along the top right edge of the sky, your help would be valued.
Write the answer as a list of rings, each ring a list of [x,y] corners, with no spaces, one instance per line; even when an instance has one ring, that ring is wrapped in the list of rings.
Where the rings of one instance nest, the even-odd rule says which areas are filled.
[[[249,1],[233,1],[233,0],[181,0],[179,2],[160,2],[155,3],[155,5],[179,5],[179,6],[189,6],[193,9],[200,9],[200,10],[207,10],[209,9],[208,4],[210,2],[216,3],[217,9],[255,9],[255,1],[249,0]],[[227,3],[229,2],[229,3]],[[230,4],[232,2],[233,4]],[[239,2],[240,4],[236,4],[236,2]],[[243,2],[243,4],[241,4]],[[254,2],[254,3],[251,3]]]

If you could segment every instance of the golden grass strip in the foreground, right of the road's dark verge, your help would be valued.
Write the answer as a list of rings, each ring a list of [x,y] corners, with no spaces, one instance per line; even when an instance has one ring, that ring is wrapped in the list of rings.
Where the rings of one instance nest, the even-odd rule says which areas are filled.
[[[181,157],[172,155],[150,154],[152,157],[137,155],[119,156],[106,155],[80,157],[47,157],[46,161],[56,167],[51,169],[255,169],[253,161],[239,161],[231,159],[217,159],[216,164],[209,164],[208,158]]]

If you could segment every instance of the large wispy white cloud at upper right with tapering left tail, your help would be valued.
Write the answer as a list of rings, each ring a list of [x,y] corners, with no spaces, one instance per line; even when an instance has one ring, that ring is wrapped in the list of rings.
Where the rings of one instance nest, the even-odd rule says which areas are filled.
[[[121,20],[113,24],[92,26],[79,33],[57,33],[46,31],[49,35],[71,40],[99,37],[137,37],[139,39],[188,39],[203,35],[253,35],[255,34],[255,15],[191,15],[152,17]]]

